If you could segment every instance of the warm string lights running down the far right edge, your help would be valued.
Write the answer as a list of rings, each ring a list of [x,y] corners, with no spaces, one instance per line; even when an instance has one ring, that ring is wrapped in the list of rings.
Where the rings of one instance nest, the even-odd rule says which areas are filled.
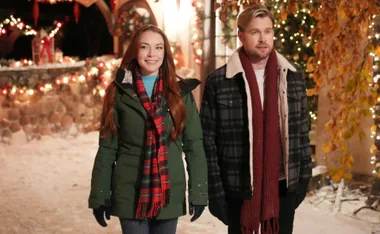
[[[372,173],[377,175],[380,179],[380,18],[373,16],[373,22],[370,24],[369,28],[373,32],[368,39],[373,41],[373,45],[376,48],[370,55],[373,57],[373,85],[377,89],[377,99],[376,104],[372,111],[372,117],[374,119],[374,125],[371,128],[371,137],[374,139],[374,144],[370,148],[371,156],[370,163],[373,165]]]

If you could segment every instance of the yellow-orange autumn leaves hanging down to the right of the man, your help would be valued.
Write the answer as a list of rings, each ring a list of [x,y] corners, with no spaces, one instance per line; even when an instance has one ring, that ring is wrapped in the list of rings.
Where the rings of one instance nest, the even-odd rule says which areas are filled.
[[[354,159],[348,143],[354,136],[364,139],[360,127],[363,116],[371,114],[376,101],[376,89],[372,85],[372,57],[380,55],[368,40],[373,15],[379,14],[375,1],[335,0],[319,1],[319,9],[311,14],[318,20],[312,32],[317,40],[315,56],[309,58],[308,72],[313,72],[315,88],[308,95],[317,94],[323,87],[331,101],[331,120],[325,125],[329,140],[323,151],[334,162],[329,166],[331,178],[339,182],[350,180]]]

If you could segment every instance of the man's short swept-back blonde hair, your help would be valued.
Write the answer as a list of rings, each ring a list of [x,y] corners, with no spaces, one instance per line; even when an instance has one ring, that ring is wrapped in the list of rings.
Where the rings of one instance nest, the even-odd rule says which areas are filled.
[[[239,31],[244,32],[244,30],[248,27],[251,20],[257,17],[260,17],[260,18],[269,17],[272,20],[273,27],[274,27],[274,16],[272,12],[270,12],[268,8],[262,4],[253,4],[253,5],[249,5],[238,15],[237,25],[238,25]]]

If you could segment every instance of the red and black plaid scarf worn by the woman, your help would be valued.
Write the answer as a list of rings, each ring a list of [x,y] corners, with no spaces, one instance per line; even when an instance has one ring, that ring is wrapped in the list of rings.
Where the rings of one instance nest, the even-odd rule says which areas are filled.
[[[161,75],[154,84],[149,99],[141,75],[134,74],[134,85],[141,104],[148,113],[146,122],[146,154],[142,172],[140,196],[136,218],[146,219],[157,216],[161,207],[169,203],[170,176],[168,171],[168,148],[161,101],[164,95]]]

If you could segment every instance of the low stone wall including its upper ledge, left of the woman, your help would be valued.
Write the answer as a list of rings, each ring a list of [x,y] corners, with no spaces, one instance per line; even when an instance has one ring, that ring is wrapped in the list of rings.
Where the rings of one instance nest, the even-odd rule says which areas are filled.
[[[40,139],[44,135],[75,137],[80,132],[99,128],[102,98],[94,95],[99,81],[86,78],[83,82],[55,84],[63,74],[86,73],[84,64],[71,67],[30,69],[7,69],[1,71],[0,87],[7,85],[9,78],[29,87],[47,82],[53,84],[49,91],[33,94],[14,92],[0,95],[0,144],[17,143],[15,135],[24,135],[25,141]],[[84,71],[83,71],[84,70]],[[25,80],[25,81],[22,81]],[[9,85],[8,85],[9,87]]]

